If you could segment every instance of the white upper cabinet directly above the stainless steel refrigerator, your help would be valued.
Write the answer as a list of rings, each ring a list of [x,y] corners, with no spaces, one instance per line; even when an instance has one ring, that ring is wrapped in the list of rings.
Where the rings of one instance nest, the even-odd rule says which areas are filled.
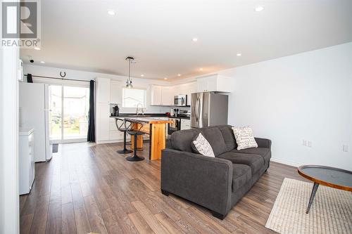
[[[197,78],[197,92],[231,92],[230,77],[213,74]]]

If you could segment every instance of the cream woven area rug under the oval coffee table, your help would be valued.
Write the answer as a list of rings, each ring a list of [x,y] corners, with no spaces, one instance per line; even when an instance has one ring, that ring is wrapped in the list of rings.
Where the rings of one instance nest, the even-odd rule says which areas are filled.
[[[319,186],[310,212],[313,183],[284,178],[266,228],[278,233],[352,233],[352,193]]]

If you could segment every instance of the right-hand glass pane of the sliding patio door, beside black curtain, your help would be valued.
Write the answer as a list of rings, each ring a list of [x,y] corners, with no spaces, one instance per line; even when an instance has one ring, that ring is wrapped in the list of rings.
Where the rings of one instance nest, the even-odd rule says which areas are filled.
[[[63,87],[63,138],[86,138],[89,88]]]

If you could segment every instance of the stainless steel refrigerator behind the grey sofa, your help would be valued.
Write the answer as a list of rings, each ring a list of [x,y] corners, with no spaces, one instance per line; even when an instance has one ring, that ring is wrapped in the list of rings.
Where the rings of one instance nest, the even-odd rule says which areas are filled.
[[[227,124],[228,96],[218,93],[192,93],[191,127]]]

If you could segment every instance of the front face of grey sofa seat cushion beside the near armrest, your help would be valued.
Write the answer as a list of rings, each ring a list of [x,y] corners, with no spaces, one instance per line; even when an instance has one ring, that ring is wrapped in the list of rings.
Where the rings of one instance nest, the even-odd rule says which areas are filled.
[[[236,192],[251,183],[251,167],[246,164],[232,164],[232,191]]]

